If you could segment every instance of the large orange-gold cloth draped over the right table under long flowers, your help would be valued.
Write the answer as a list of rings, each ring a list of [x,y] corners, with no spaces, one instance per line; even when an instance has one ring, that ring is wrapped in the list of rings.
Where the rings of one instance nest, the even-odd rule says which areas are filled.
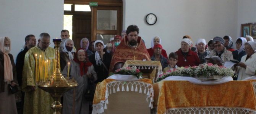
[[[217,114],[218,111],[229,111],[230,114],[256,113],[251,81],[230,81],[217,85],[160,81],[154,83],[153,88],[153,105],[157,107],[157,114],[180,114],[182,111],[191,114],[198,114],[199,111],[201,114]]]

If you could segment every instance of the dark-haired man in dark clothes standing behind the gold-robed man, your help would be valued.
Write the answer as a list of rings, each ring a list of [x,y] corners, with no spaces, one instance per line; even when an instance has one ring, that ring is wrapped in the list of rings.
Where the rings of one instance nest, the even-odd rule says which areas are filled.
[[[23,51],[19,52],[17,59],[16,59],[16,69],[17,69],[17,78],[19,86],[22,86],[22,70],[24,65],[24,58],[26,52],[34,46],[36,46],[36,38],[34,35],[27,35],[25,37],[26,47]],[[21,92],[21,110],[23,111],[23,104],[24,104],[24,92]]]

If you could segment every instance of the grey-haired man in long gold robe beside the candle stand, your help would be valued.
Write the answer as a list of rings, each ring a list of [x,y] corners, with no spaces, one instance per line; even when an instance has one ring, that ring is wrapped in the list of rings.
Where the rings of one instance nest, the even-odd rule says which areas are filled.
[[[39,68],[39,56],[41,60],[49,60],[50,63],[55,59],[55,50],[49,47],[50,35],[41,33],[37,46],[32,47],[25,55],[22,90],[25,92],[23,114],[52,114],[51,104],[53,99],[50,93],[36,86],[36,76]],[[37,60],[37,66],[36,66]],[[53,73],[53,64],[50,64],[49,72]],[[37,71],[37,72],[36,72]]]

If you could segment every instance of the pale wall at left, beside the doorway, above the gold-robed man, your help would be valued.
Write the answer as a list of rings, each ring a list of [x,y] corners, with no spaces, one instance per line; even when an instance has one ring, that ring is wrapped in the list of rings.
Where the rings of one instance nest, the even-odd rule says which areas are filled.
[[[60,38],[63,29],[63,0],[0,0],[0,37],[11,39],[11,54],[16,59],[26,35],[36,39],[47,32]],[[51,41],[50,47],[53,47]]]

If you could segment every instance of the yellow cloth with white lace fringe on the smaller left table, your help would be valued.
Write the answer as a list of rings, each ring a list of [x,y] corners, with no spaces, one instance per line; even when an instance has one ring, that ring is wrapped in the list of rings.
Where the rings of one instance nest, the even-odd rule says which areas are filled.
[[[146,100],[149,101],[149,107],[153,108],[152,103],[154,99],[154,90],[152,86],[153,85],[151,79],[146,78],[135,81],[118,81],[115,79],[105,79],[104,81],[97,84],[92,104],[92,114],[100,114],[104,112],[104,109],[107,109],[108,96],[119,91],[144,93],[147,95]]]

